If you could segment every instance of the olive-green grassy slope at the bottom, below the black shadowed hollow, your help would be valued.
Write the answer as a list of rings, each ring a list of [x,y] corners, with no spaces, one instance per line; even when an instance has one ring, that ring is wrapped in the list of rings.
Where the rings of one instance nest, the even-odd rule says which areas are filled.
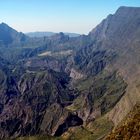
[[[69,129],[62,138],[66,140],[97,140],[103,138],[112,128],[113,123],[103,116],[87,126]]]

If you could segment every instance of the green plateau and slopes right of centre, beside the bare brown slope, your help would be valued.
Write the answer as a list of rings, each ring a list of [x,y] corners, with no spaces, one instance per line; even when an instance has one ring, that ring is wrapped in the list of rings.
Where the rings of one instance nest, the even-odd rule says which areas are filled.
[[[91,106],[100,107],[101,113],[109,111],[125,93],[126,83],[116,73],[102,71],[97,76],[89,77],[78,81],[74,87],[81,91],[81,94],[74,100],[67,109],[77,111],[82,109],[87,97]]]

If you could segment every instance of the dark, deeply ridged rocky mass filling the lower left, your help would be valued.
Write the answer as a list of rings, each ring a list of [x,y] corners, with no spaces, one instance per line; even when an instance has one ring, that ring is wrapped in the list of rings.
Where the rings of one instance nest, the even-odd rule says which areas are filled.
[[[18,81],[13,76],[10,79],[9,77],[6,80],[3,79],[5,86],[2,84],[1,86],[5,89],[1,88],[1,138],[42,132],[50,135],[55,133],[57,126],[68,116],[67,111],[63,109],[64,106],[76,96],[74,91],[68,90],[65,86],[66,76],[62,76],[64,79],[59,76],[56,72],[40,71],[39,73],[23,73],[20,78],[18,77]],[[61,113],[60,116],[56,115],[57,112],[53,108],[58,113],[62,110],[62,115]],[[46,121],[47,111],[48,113],[52,111],[52,115]],[[54,120],[58,124],[53,124]]]

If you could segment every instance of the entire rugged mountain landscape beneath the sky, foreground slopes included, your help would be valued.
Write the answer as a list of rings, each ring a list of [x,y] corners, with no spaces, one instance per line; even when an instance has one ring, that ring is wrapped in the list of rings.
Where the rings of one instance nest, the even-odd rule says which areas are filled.
[[[0,139],[140,139],[139,54],[136,7],[76,37],[0,24]]]

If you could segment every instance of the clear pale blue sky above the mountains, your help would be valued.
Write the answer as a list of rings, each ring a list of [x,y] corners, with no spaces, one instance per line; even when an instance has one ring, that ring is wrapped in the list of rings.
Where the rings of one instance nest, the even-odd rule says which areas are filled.
[[[0,0],[0,22],[21,32],[87,34],[120,6],[140,0]]]

